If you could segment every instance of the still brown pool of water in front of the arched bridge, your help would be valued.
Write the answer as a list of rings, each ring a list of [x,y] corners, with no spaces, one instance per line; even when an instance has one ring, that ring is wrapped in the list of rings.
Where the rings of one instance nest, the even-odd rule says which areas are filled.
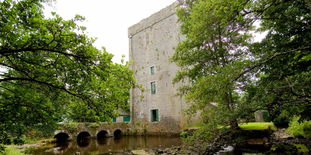
[[[35,155],[73,155],[80,152],[83,155],[121,153],[133,149],[157,149],[169,148],[172,145],[183,145],[183,140],[178,137],[155,137],[155,136],[122,136],[103,139],[84,139],[81,141],[67,141],[48,144],[36,149],[28,149],[26,153]]]

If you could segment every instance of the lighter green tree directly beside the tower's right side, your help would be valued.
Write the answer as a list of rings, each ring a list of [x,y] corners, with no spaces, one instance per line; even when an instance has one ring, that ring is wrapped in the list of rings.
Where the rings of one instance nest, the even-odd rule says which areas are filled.
[[[225,111],[232,111],[237,104],[236,95],[239,81],[230,82],[244,68],[244,61],[249,61],[247,47],[253,27],[238,18],[236,14],[228,14],[233,2],[196,1],[180,2],[177,15],[182,22],[181,32],[186,40],[179,43],[171,61],[182,67],[174,78],[174,82],[187,79],[195,80],[194,86],[185,85],[179,90],[191,103],[191,113],[204,109],[210,103],[218,103]],[[221,11],[220,11],[221,10]],[[244,31],[244,33],[240,33]],[[232,70],[235,68],[235,70]],[[222,106],[223,105],[223,106]],[[226,116],[232,128],[237,128],[237,117]],[[225,122],[219,122],[225,123]]]

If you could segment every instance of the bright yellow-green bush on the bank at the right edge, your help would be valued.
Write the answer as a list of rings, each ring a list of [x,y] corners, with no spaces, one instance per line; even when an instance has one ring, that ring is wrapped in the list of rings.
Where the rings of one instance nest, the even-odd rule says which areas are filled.
[[[290,135],[294,137],[298,136],[305,136],[311,137],[311,121],[304,120],[303,122],[299,123],[300,117],[294,117],[290,123],[288,124],[287,132],[290,132]]]

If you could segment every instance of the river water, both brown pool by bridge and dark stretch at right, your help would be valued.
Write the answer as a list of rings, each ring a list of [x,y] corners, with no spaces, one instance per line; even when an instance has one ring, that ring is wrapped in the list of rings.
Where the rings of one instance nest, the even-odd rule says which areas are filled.
[[[82,141],[66,141],[61,143],[51,143],[39,146],[39,148],[29,148],[25,153],[30,155],[126,155],[132,154],[131,150],[145,149],[163,150],[172,146],[183,146],[183,140],[179,137],[156,137],[156,136],[120,136],[103,139],[85,139]],[[184,148],[184,147],[182,147]],[[260,144],[227,146],[223,150],[215,153],[217,155],[263,155],[263,154],[304,154],[309,152],[309,146],[304,144],[284,145],[284,144]],[[157,152],[157,151],[156,151]],[[156,153],[153,153],[156,154]]]

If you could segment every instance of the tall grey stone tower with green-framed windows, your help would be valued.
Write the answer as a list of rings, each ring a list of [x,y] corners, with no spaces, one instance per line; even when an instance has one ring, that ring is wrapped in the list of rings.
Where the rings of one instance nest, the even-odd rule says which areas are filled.
[[[130,90],[131,123],[151,134],[178,134],[195,122],[183,118],[180,112],[187,105],[174,96],[181,82],[172,84],[172,80],[181,69],[169,64],[169,58],[178,42],[185,40],[179,32],[180,23],[176,23],[175,6],[173,3],[128,28],[130,69],[137,85],[146,90],[142,99],[140,89]]]

